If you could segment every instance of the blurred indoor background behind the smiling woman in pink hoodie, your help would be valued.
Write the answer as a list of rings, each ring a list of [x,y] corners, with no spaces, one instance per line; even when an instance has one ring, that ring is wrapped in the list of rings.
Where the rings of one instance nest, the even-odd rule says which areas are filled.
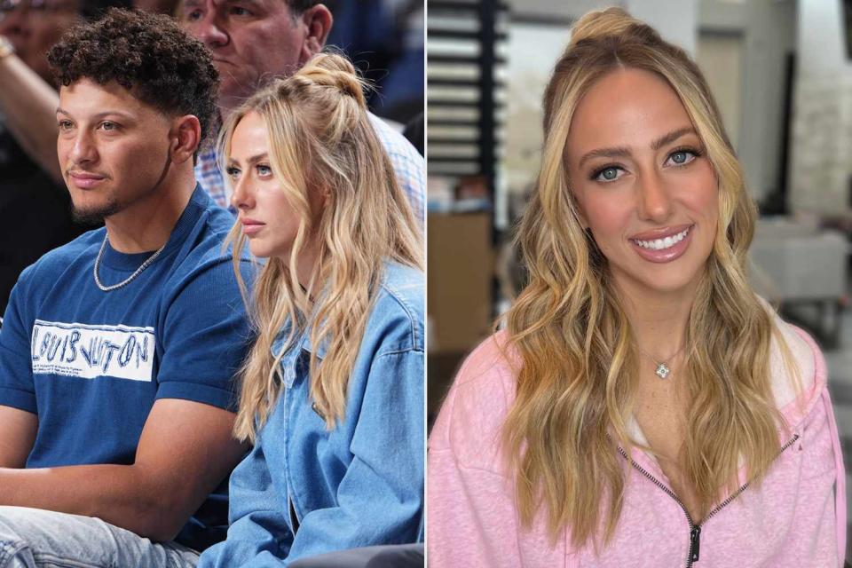
[[[539,164],[541,94],[572,22],[608,5],[704,71],[761,207],[754,285],[823,347],[852,471],[852,0],[430,0],[430,421],[522,284],[509,241]]]

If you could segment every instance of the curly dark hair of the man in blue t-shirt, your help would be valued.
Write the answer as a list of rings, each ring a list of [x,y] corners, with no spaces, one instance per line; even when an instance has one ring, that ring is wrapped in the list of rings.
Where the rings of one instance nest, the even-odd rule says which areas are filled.
[[[48,51],[59,84],[115,81],[164,114],[194,114],[201,141],[217,124],[219,75],[210,52],[168,16],[111,8]]]

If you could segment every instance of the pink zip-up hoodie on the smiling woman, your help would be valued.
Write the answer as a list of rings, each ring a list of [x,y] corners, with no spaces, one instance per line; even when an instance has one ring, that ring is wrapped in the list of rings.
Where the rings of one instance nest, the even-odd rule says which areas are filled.
[[[430,568],[842,566],[846,478],[824,359],[809,335],[777,318],[776,325],[799,367],[801,390],[774,344],[772,389],[790,430],[779,430],[782,452],[759,488],[741,487],[696,526],[657,461],[634,448],[619,524],[598,554],[590,544],[573,548],[568,529],[554,545],[543,514],[521,527],[500,448],[515,377],[497,347],[506,336],[486,340],[461,367],[429,439]],[[635,422],[631,435],[643,441]]]

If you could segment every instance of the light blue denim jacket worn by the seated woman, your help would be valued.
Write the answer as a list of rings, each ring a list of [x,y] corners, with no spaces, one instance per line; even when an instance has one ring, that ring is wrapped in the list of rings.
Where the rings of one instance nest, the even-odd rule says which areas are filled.
[[[385,264],[346,414],[331,431],[312,409],[312,349],[305,333],[281,360],[284,388],[231,476],[227,540],[204,552],[201,568],[287,566],[333,550],[422,540],[422,272]],[[324,355],[320,345],[317,356]]]

